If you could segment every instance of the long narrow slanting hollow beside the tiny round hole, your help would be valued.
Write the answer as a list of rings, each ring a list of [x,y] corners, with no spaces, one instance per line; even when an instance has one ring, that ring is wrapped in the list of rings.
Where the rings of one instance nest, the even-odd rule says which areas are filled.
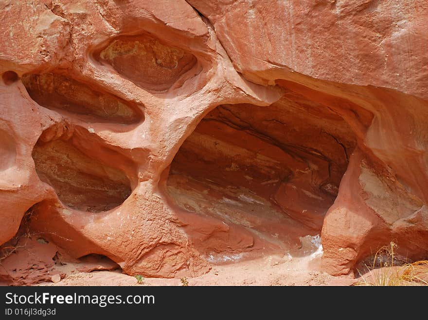
[[[144,117],[137,105],[58,73],[27,74],[22,83],[39,105],[89,116],[92,122],[131,124]]]

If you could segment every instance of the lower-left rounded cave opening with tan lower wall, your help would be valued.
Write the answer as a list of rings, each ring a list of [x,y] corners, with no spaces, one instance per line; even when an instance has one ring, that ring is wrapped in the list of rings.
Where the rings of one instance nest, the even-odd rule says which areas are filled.
[[[104,212],[131,194],[134,164],[78,126],[46,129],[33,149],[39,179],[51,185],[63,205],[87,212]]]

